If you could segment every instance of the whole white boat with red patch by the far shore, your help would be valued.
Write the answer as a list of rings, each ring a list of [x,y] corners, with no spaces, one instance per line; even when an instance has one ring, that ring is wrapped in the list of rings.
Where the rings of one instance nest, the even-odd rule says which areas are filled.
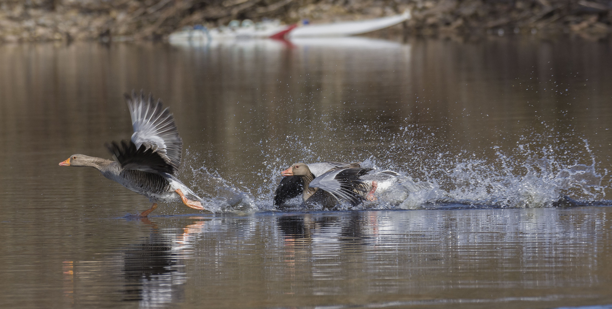
[[[253,23],[250,20],[231,21],[228,26],[214,29],[205,27],[187,28],[183,31],[170,34],[168,40],[173,44],[184,44],[189,42],[201,43],[212,40],[236,40],[236,39],[285,39],[302,37],[346,37],[349,35],[364,34],[379,29],[384,29],[411,18],[410,11],[401,15],[376,18],[373,20],[344,21],[331,24],[297,24],[283,25],[280,21],[263,21]]]

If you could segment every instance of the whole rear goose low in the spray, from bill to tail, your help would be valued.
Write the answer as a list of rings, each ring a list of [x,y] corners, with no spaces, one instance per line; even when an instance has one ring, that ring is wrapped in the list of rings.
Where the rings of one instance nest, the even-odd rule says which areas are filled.
[[[324,207],[333,207],[341,199],[353,205],[365,200],[397,206],[408,198],[410,192],[420,190],[408,177],[390,170],[361,168],[360,162],[296,163],[281,175],[285,177],[278,184],[274,196],[277,206],[283,206],[300,194],[305,203],[323,204]]]

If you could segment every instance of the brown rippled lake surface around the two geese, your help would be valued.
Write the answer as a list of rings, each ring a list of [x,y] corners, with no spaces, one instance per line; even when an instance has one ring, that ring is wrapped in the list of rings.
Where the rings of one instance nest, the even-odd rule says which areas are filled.
[[[611,52],[536,37],[0,45],[0,307],[609,308]],[[133,219],[146,198],[58,166],[131,136],[132,89],[174,113],[177,177],[233,202]],[[275,209],[280,172],[323,160],[429,185],[401,204]],[[563,196],[578,206],[554,207]]]

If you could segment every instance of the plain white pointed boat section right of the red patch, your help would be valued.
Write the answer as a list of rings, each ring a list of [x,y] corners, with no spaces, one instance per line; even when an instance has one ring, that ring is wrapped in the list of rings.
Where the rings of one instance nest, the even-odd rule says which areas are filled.
[[[406,10],[401,15],[376,18],[374,20],[345,21],[332,24],[307,24],[293,29],[287,36],[294,37],[348,37],[349,35],[364,34],[384,29],[395,24],[409,20],[410,11]]]

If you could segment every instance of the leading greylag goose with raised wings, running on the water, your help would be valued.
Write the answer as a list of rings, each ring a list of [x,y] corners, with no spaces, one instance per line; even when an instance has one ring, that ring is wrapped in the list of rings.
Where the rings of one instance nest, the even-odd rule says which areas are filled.
[[[134,133],[130,141],[106,143],[114,161],[87,155],[71,155],[61,166],[89,166],[111,181],[149,198],[153,205],[140,213],[146,217],[157,203],[182,201],[187,207],[203,210],[202,199],[173,176],[181,164],[183,140],[174,124],[174,116],[163,108],[162,100],[125,94],[132,115]],[[185,195],[190,196],[188,199]]]

